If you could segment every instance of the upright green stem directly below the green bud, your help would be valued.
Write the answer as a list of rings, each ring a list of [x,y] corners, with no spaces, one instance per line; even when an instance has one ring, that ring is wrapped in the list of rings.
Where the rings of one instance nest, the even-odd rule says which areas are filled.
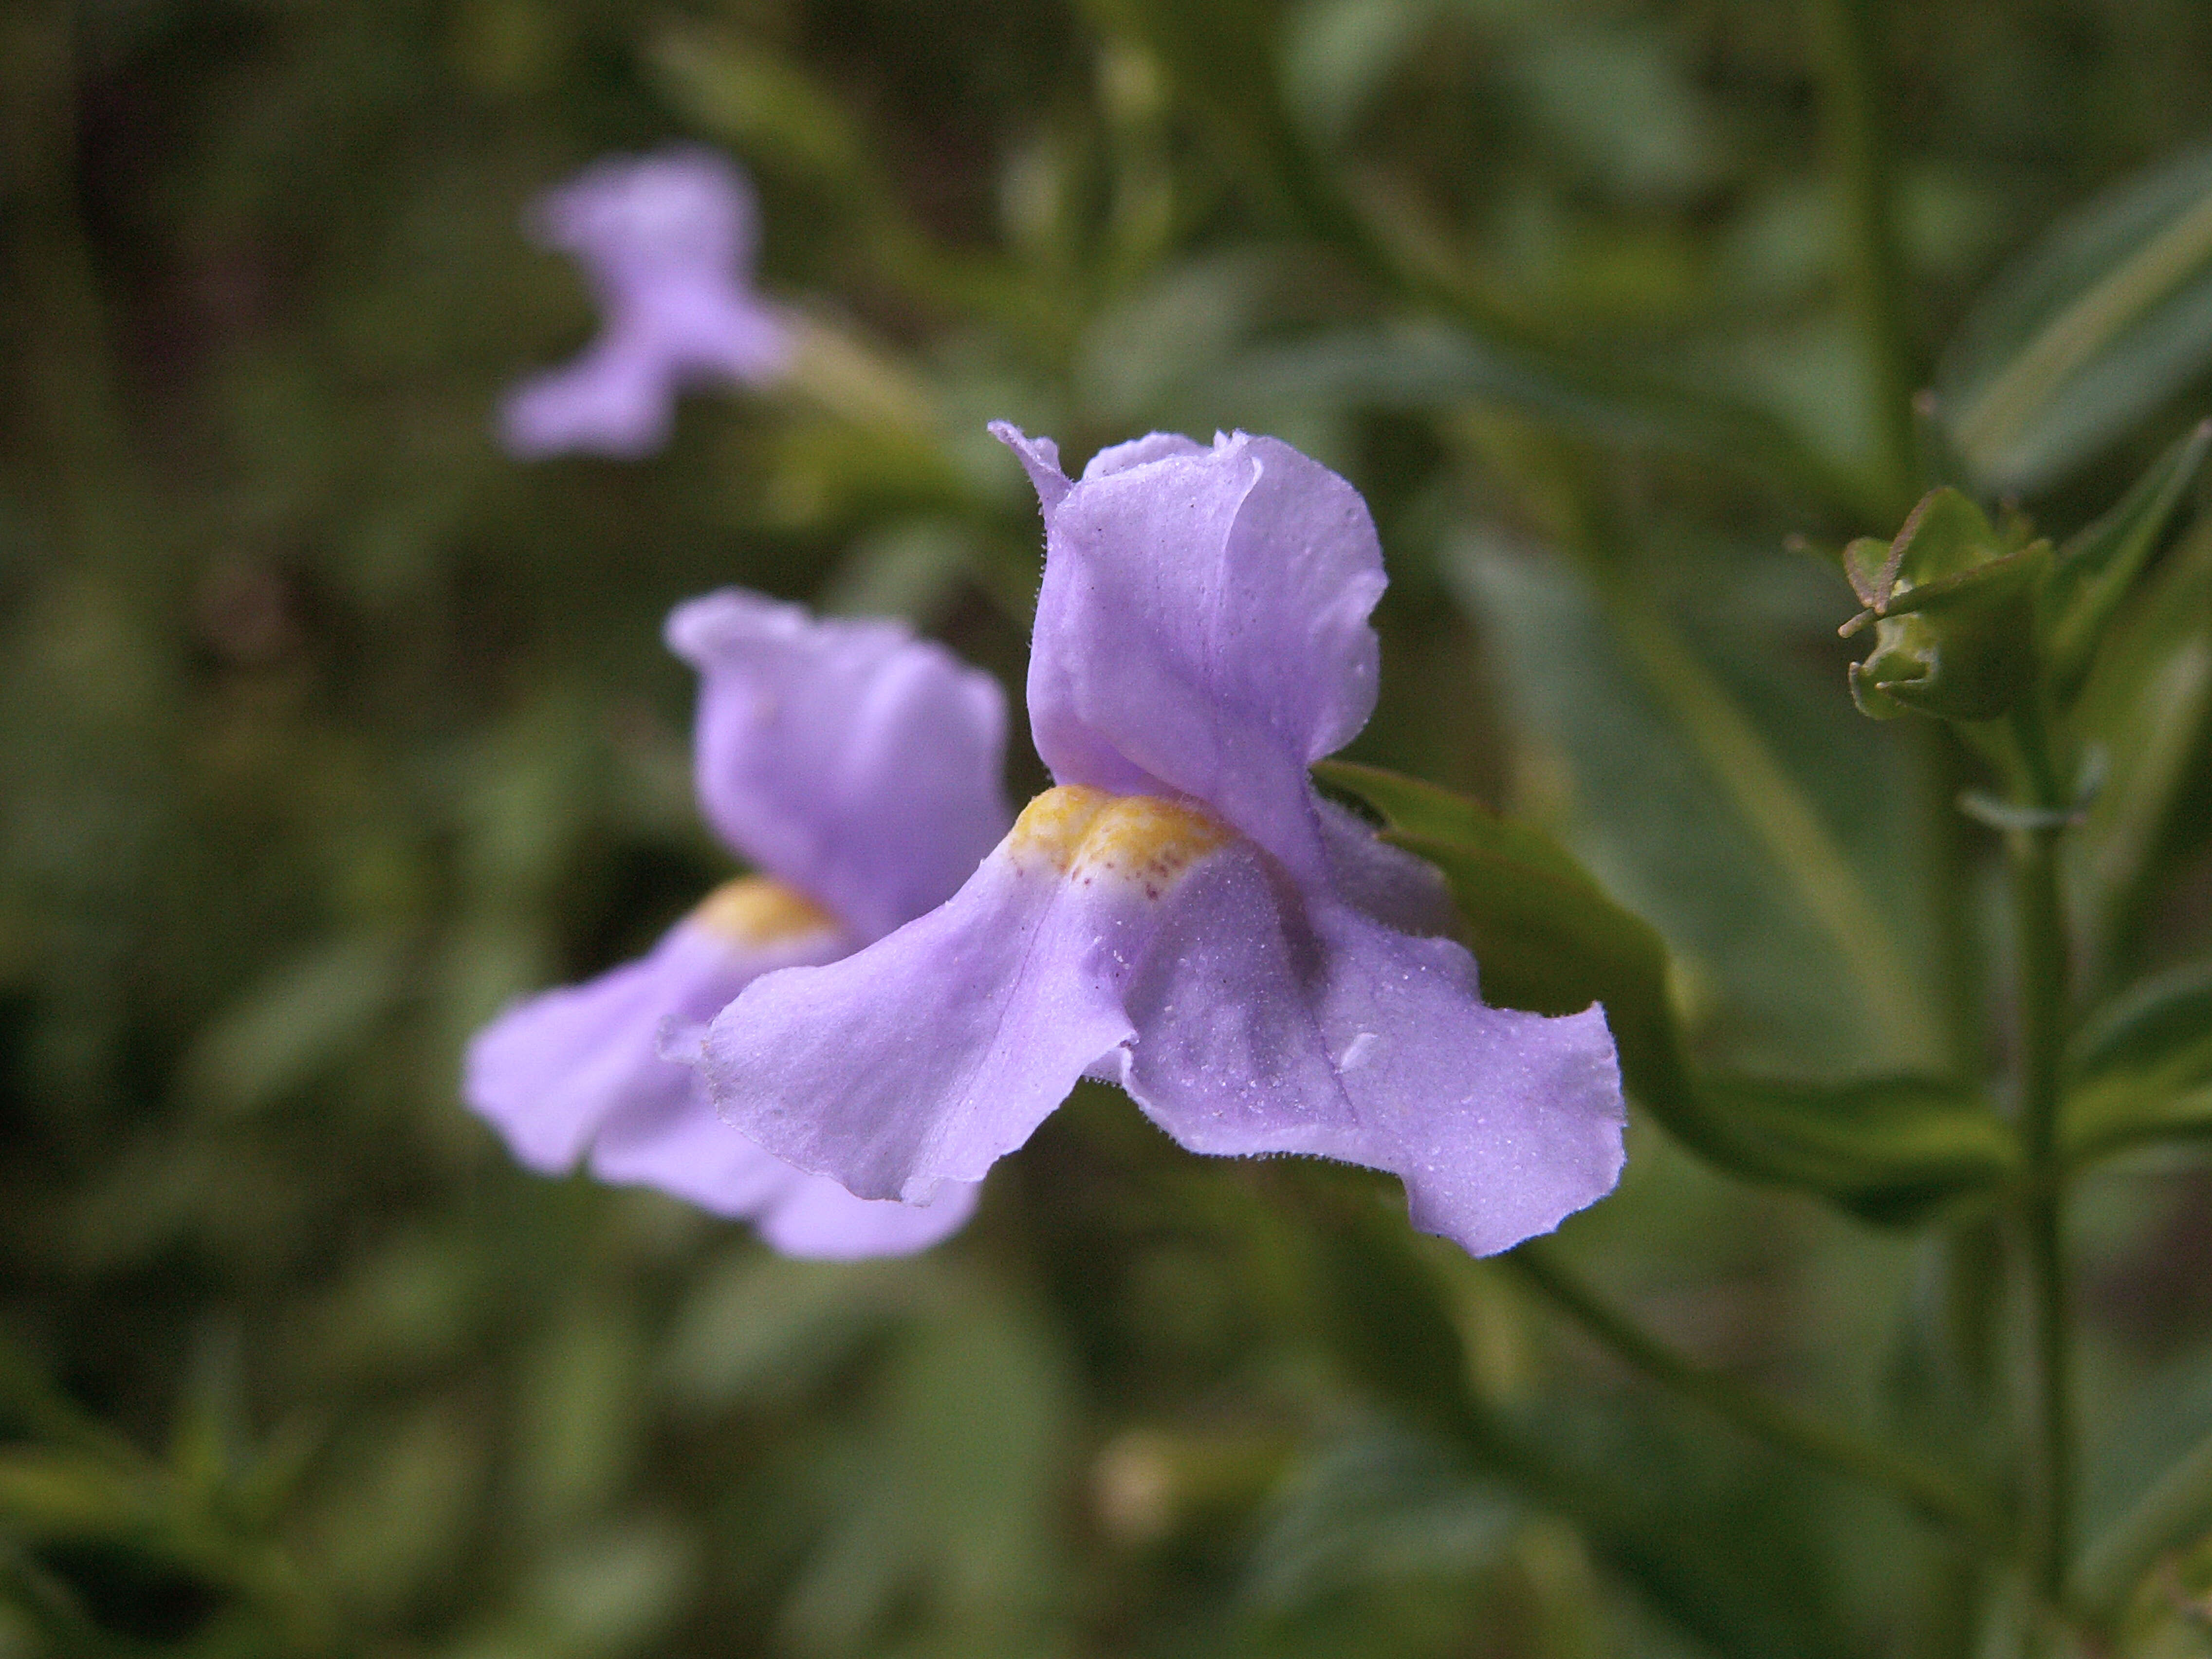
[[[2013,717],[2022,792],[2031,805],[2062,803],[2042,719]],[[2028,1582],[2051,1606],[2066,1597],[2075,1447],[2070,1310],[2066,1294],[2064,1199],[2059,1146],[2059,1057],[2066,1037],[2066,922],[2059,907],[2057,830],[2013,830],[2006,852],[2013,874],[2017,953],[2017,1084],[2020,1144],[2026,1179],[2017,1201],[2020,1250],[2028,1270],[2033,1358],[2033,1440],[2022,1557]]]

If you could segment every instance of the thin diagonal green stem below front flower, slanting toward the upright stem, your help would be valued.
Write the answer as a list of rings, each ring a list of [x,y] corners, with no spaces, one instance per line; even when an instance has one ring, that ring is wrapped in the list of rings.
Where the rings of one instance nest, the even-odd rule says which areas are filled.
[[[1542,1239],[1520,1245],[1511,1254],[1500,1256],[1500,1261],[1517,1270],[1524,1283],[1604,1343],[1617,1358],[1644,1371],[1661,1387],[1672,1389],[1686,1400],[1694,1400],[1767,1444],[1794,1451],[1807,1462],[1887,1491],[1907,1509],[1951,1528],[1984,1553],[2004,1551],[2004,1533],[1991,1509],[1951,1475],[1929,1469],[1891,1447],[1863,1440],[1849,1429],[1838,1429],[1832,1422],[1807,1416],[1785,1400],[1747,1389],[1734,1378],[1674,1352],[1584,1285]]]

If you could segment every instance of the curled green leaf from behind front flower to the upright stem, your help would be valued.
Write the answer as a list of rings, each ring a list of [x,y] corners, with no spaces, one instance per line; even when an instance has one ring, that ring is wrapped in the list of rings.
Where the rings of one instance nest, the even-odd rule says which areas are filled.
[[[1966,1088],[1922,1077],[1836,1086],[1699,1077],[1668,998],[1666,942],[1571,852],[1433,783],[1343,761],[1314,772],[1367,801],[1387,821],[1387,841],[1444,874],[1486,1002],[1531,1013],[1604,1004],[1628,1093],[1710,1164],[1816,1192],[1882,1225],[2011,1175],[2011,1130]]]

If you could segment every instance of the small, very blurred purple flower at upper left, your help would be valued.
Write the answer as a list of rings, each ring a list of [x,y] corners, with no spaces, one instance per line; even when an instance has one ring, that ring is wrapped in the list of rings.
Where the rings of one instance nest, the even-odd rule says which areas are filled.
[[[681,387],[781,374],[790,330],[752,292],[754,219],[745,177],[692,148],[608,157],[542,197],[526,223],[584,263],[606,327],[509,394],[507,449],[644,456],[668,438]]]

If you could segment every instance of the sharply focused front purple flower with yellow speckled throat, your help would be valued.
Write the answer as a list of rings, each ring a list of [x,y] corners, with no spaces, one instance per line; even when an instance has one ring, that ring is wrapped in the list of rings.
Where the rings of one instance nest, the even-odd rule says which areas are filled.
[[[1091,460],[993,431],[1044,504],[1029,714],[1057,787],[945,905],[708,1026],[723,1113],[860,1194],[975,1181],[1077,1077],[1194,1152],[1396,1172],[1475,1254],[1621,1168],[1599,1009],[1484,1006],[1433,869],[1307,765],[1376,699],[1383,555],[1358,493],[1272,438]]]

